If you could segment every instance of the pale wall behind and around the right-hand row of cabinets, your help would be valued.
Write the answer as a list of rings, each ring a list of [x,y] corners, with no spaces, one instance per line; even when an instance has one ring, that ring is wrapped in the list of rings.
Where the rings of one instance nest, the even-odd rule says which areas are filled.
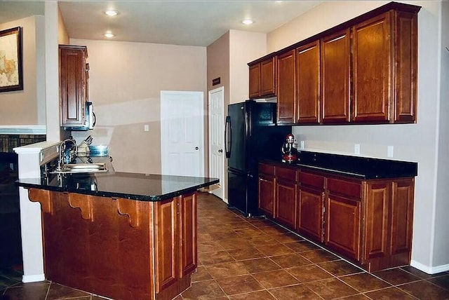
[[[441,64],[441,1],[407,2],[422,6],[418,15],[417,124],[296,126],[293,133],[298,141],[305,141],[307,149],[351,154],[354,153],[354,144],[361,144],[362,156],[387,158],[387,146],[390,145],[394,146],[394,159],[418,163],[412,264],[422,271],[432,273],[438,268],[449,269],[447,233],[443,238],[443,232],[449,228],[448,218],[443,217],[444,212],[448,211],[447,201],[443,198],[443,194],[447,195],[447,187],[438,190],[436,186],[438,163],[441,165],[447,159],[439,156],[441,161],[438,161],[438,116],[441,114],[447,118],[449,113],[447,104],[441,107],[444,110],[439,110],[440,99],[443,99],[440,98],[439,86],[443,76],[440,77],[438,71]],[[269,33],[268,49],[280,50],[385,3],[387,1],[325,2]],[[447,68],[445,72],[447,74]],[[447,78],[446,75],[443,80],[448,81]],[[441,86],[448,84],[446,82]],[[441,93],[443,94],[443,90]],[[444,93],[447,96],[447,90]],[[441,125],[448,128],[447,124]],[[441,133],[444,135],[445,131]],[[447,144],[447,137],[442,138],[441,142]],[[447,153],[447,146],[440,146],[439,150],[443,155],[443,151]],[[440,189],[447,186],[449,175],[446,173],[443,170],[438,173]],[[441,196],[438,195],[439,191]],[[445,210],[439,212],[436,219],[435,212],[440,207]]]

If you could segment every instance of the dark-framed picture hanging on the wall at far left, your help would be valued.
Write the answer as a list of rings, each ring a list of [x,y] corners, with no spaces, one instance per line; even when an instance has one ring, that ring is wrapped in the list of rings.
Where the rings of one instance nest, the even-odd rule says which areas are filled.
[[[0,31],[0,92],[23,90],[22,28]]]

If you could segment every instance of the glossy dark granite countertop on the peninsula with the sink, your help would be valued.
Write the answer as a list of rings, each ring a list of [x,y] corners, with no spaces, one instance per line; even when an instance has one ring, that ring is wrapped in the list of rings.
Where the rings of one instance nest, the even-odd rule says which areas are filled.
[[[42,178],[22,178],[15,184],[25,188],[65,191],[101,197],[159,201],[202,187],[217,184],[219,179],[184,177],[128,172],[105,172],[72,175],[44,175]]]

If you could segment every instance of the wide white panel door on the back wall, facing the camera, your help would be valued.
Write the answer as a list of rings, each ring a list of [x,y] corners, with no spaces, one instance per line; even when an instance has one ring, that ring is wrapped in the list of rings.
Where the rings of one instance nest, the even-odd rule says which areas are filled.
[[[204,177],[203,92],[161,90],[163,175]]]

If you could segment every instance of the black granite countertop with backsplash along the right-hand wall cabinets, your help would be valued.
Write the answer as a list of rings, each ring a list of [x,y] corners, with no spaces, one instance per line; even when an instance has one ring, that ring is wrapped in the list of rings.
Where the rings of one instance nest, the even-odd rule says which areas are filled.
[[[300,151],[299,160],[295,163],[281,163],[281,161],[267,161],[290,165],[321,172],[329,172],[358,179],[389,179],[417,176],[418,164],[408,161],[393,161],[380,158],[361,156],[345,156],[325,154],[311,151]]]

